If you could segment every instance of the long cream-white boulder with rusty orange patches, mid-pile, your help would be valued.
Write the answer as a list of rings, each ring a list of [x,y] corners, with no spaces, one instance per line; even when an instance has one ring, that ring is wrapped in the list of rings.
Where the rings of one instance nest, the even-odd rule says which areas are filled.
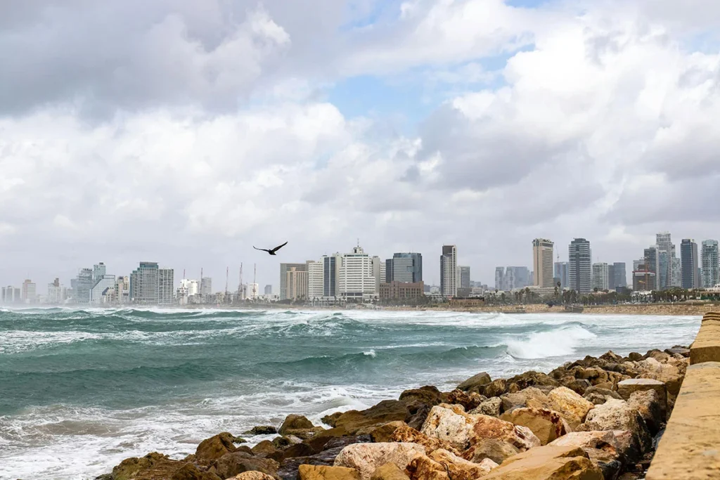
[[[422,432],[449,443],[457,450],[467,450],[484,438],[503,440],[520,450],[540,445],[540,440],[526,427],[518,427],[489,415],[469,415],[460,408],[443,405],[433,407]]]

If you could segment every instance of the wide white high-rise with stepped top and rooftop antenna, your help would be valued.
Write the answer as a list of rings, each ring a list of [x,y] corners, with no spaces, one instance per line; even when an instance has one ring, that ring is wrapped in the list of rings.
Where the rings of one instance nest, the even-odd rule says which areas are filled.
[[[379,280],[379,257],[371,257],[359,245],[340,256],[338,296],[356,300],[377,298]]]

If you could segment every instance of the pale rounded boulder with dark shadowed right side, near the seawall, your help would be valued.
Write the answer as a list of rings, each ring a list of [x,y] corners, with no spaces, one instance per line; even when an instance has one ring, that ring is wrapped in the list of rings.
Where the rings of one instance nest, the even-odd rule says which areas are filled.
[[[639,412],[624,400],[610,399],[590,410],[588,417],[578,431],[627,430],[632,434],[634,447],[647,452],[652,447],[652,438]]]

